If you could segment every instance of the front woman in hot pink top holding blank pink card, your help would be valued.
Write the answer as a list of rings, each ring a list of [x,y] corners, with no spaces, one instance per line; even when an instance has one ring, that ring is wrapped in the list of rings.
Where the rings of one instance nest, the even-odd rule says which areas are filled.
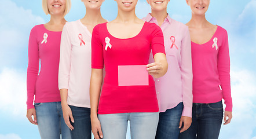
[[[131,138],[155,138],[159,108],[152,76],[163,76],[167,61],[160,27],[138,19],[137,2],[116,0],[116,19],[93,29],[90,103],[96,139],[126,138],[128,120]],[[148,64],[151,50],[155,62]]]

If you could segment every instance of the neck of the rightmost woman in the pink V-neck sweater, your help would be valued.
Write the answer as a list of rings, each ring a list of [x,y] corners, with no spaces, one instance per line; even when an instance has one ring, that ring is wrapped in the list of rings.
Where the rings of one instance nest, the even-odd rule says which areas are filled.
[[[192,13],[191,20],[189,24],[195,28],[204,28],[209,25],[209,21],[206,20],[206,16],[204,15],[196,15]]]

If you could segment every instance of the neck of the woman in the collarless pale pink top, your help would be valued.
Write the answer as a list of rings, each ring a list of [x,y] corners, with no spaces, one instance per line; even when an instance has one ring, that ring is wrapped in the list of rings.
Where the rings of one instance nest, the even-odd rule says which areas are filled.
[[[101,16],[100,9],[92,10],[86,9],[85,17],[81,19],[81,22],[84,24],[98,24],[103,21]]]

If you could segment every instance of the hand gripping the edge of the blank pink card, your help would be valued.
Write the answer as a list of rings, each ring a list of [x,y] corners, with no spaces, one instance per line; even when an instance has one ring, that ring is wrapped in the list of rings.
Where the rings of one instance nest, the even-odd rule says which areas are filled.
[[[154,78],[159,78],[159,75],[163,71],[162,63],[150,63],[147,65],[147,71],[149,75],[152,75]]]

